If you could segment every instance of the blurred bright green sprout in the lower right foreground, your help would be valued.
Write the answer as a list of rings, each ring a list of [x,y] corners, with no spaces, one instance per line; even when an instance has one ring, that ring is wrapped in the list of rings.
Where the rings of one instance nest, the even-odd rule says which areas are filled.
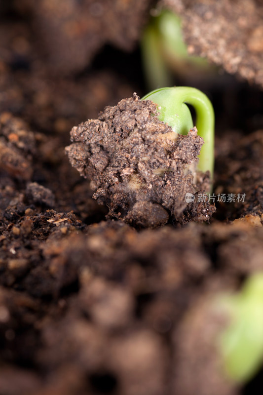
[[[220,338],[225,371],[244,383],[263,362],[263,273],[250,276],[239,293],[222,302],[231,318]]]

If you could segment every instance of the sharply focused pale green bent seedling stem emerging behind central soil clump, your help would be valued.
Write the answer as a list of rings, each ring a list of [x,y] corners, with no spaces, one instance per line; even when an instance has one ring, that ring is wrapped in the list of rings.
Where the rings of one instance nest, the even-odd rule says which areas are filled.
[[[204,144],[199,155],[197,169],[209,170],[211,180],[214,172],[214,128],[213,106],[208,97],[200,90],[188,86],[160,88],[145,95],[142,100],[151,100],[157,105],[158,118],[172,127],[173,131],[187,134],[193,127],[193,120],[187,104],[196,113],[198,135]]]

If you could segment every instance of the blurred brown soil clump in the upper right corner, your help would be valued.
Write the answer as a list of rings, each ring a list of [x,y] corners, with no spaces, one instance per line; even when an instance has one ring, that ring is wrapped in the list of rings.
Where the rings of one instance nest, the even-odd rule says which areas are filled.
[[[182,17],[188,52],[263,86],[263,5],[258,0],[162,0]]]

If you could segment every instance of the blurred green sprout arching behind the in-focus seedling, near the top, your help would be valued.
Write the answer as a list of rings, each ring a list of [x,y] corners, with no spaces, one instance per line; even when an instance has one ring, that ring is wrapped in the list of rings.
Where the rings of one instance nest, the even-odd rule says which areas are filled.
[[[142,35],[141,48],[149,89],[171,85],[172,71],[196,76],[214,70],[205,59],[188,55],[181,20],[168,10],[150,19]]]

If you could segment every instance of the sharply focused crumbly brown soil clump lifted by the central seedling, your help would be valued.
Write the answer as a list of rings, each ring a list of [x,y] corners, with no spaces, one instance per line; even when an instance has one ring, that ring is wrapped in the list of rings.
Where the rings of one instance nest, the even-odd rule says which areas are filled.
[[[159,121],[150,100],[134,94],[106,107],[99,119],[75,126],[71,140],[71,164],[90,180],[93,197],[110,208],[109,217],[155,228],[169,217],[208,221],[215,211],[208,201],[186,202],[187,193],[209,188],[208,174],[195,169],[203,139],[196,128],[187,136],[174,133]]]

